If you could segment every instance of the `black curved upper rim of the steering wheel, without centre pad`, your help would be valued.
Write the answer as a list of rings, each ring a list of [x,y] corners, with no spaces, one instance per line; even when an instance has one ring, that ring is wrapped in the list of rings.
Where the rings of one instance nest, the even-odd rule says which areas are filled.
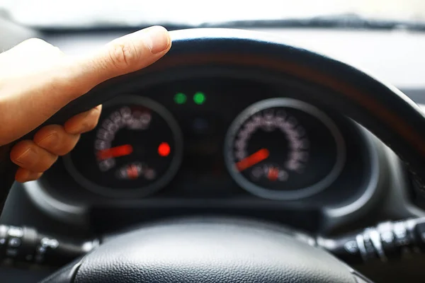
[[[173,32],[172,37],[171,51],[159,62],[141,71],[102,83],[85,96],[69,103],[43,125],[64,122],[78,112],[117,96],[120,88],[127,83],[135,79],[148,80],[152,74],[169,69],[253,69],[256,74],[274,78],[276,83],[279,78],[287,78],[306,87],[317,88],[321,96],[310,97],[311,100],[320,101],[328,108],[339,110],[369,129],[402,158],[418,183],[424,183],[425,131],[416,129],[425,128],[425,116],[412,100],[396,88],[347,64],[285,45],[278,37],[263,33],[195,29]],[[24,138],[31,137],[32,134],[33,132]],[[3,175],[3,178],[5,177],[7,176]],[[141,243],[131,241],[129,244],[136,247]],[[107,251],[108,247],[111,246],[103,249]],[[84,267],[84,261],[81,266]],[[107,269],[107,266],[104,267]],[[283,278],[285,279],[288,277]],[[120,281],[117,279],[111,282]]]

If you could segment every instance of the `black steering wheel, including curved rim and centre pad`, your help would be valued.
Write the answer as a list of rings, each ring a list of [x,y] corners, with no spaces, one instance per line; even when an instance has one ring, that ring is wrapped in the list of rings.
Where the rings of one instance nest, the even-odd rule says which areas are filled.
[[[338,110],[373,132],[398,154],[423,187],[425,117],[396,88],[347,64],[285,45],[278,37],[263,33],[193,29],[171,34],[171,51],[159,62],[102,83],[44,125],[63,123],[125,93],[135,81],[149,84],[161,83],[164,78],[225,74],[276,87],[302,88],[307,93],[303,100]],[[10,187],[16,170],[8,158],[10,147],[4,147],[1,159],[4,189]],[[109,238],[44,282],[366,282],[358,276],[324,250],[310,246],[308,237],[280,226],[200,218],[142,226]]]

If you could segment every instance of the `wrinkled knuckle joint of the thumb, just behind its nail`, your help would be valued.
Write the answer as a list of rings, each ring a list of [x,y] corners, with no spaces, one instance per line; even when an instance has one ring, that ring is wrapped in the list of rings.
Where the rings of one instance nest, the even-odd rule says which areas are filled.
[[[109,59],[118,69],[127,69],[138,59],[138,52],[130,42],[111,42]]]

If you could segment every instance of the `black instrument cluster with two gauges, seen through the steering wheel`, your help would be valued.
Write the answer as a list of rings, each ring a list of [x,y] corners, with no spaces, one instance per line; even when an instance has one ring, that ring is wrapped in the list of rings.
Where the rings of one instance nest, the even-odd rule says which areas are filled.
[[[226,76],[135,86],[37,183],[84,207],[239,208],[314,231],[376,190],[378,161],[365,129],[304,97]]]

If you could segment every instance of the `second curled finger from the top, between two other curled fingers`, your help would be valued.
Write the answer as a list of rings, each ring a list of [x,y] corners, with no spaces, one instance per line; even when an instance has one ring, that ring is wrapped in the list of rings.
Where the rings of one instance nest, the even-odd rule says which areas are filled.
[[[51,154],[62,156],[74,149],[79,140],[79,134],[70,134],[60,125],[42,127],[34,136],[33,141]]]

